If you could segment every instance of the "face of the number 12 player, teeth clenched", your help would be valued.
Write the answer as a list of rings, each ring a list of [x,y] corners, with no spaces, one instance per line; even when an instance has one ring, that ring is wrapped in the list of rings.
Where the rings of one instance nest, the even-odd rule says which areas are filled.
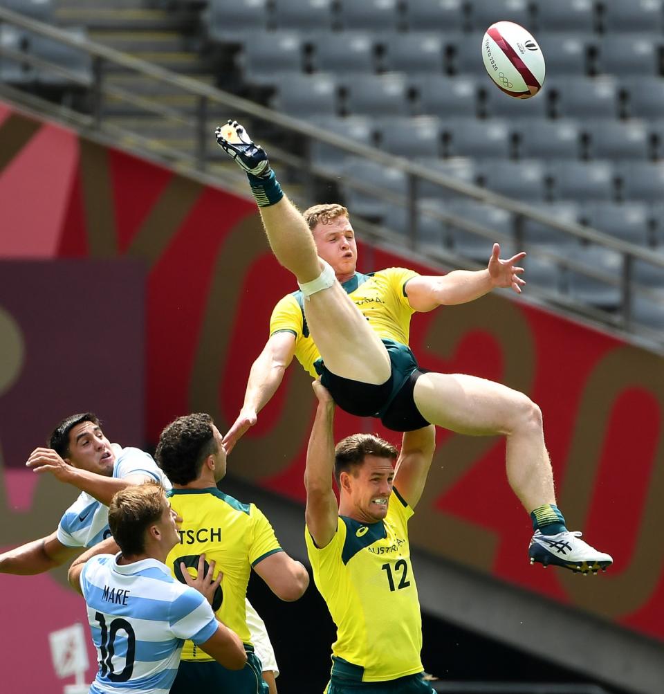
[[[364,464],[348,475],[350,500],[356,521],[377,523],[387,514],[394,468],[389,458],[367,455]]]

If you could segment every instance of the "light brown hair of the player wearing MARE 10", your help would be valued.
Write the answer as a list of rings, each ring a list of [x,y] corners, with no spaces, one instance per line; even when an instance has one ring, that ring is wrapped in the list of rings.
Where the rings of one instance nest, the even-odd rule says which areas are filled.
[[[126,487],[114,494],[108,507],[108,526],[124,557],[145,551],[145,531],[164,511],[164,488],[157,482]]]

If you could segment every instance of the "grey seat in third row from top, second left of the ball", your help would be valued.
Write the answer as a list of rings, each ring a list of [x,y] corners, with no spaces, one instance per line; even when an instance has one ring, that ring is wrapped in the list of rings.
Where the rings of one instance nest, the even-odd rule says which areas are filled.
[[[410,115],[407,82],[400,73],[356,75],[344,83],[350,115]]]

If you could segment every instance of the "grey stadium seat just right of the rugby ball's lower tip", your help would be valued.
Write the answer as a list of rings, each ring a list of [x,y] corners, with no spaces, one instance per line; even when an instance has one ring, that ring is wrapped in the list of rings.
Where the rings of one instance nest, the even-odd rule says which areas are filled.
[[[554,94],[555,111],[558,116],[618,116],[618,87],[611,78],[550,80],[547,87]]]

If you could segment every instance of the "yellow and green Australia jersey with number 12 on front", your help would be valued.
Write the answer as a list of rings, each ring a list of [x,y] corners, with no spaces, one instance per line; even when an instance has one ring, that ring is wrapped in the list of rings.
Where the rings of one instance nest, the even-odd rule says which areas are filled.
[[[318,549],[305,528],[314,582],[337,625],[332,672],[384,682],[422,672],[422,616],[410,561],[413,510],[396,489],[384,521],[339,516],[337,533]]]

